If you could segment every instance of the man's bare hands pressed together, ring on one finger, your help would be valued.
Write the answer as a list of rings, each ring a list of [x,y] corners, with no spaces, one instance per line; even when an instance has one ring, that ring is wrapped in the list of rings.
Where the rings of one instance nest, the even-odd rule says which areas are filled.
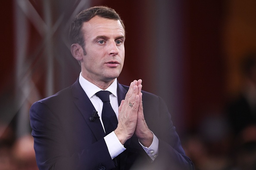
[[[131,82],[125,100],[122,100],[119,106],[118,126],[114,132],[122,145],[134,133],[145,147],[149,147],[153,142],[153,133],[144,119],[141,82],[141,79]]]

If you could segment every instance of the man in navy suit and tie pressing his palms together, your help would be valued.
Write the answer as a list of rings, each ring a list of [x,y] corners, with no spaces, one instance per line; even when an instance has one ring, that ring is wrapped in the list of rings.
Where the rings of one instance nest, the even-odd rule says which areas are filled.
[[[125,58],[119,15],[103,6],[86,9],[72,22],[69,37],[81,64],[78,80],[30,110],[39,169],[194,169],[162,99],[141,91],[141,80],[129,87],[117,82]],[[110,111],[102,91],[110,91],[112,121],[105,121]]]

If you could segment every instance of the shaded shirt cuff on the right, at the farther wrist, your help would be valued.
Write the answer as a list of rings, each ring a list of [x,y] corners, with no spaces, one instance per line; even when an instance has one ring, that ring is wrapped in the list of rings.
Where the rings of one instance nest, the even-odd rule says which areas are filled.
[[[153,133],[153,132],[152,132]],[[140,141],[139,141],[140,143]],[[159,144],[159,140],[158,138],[155,136],[155,134],[153,133],[153,142],[150,145],[150,147],[145,147],[143,146],[141,143],[140,145],[142,146],[142,148],[144,149],[144,151],[147,153],[147,155],[149,155],[149,157],[152,159],[152,162],[156,159],[156,157],[158,156],[158,144]]]

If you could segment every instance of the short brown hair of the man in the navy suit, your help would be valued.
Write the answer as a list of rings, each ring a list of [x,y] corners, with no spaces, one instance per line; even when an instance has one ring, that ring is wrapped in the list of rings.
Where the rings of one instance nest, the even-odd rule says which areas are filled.
[[[84,49],[84,36],[81,32],[81,27],[84,22],[90,21],[95,16],[119,20],[125,29],[123,21],[114,9],[107,6],[94,6],[81,11],[72,21],[69,28],[69,41],[71,44],[78,43]]]

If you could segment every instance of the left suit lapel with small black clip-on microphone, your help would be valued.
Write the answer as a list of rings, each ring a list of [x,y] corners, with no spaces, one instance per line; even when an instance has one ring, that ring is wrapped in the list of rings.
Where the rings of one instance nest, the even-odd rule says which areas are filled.
[[[93,122],[91,122],[89,119],[93,111],[96,109],[94,108],[94,105],[91,103],[91,100],[87,97],[78,80],[72,85],[72,94],[74,97],[75,105],[84,117],[84,120],[86,121],[88,126],[91,128],[91,131],[96,137],[96,139],[100,140],[103,137],[105,137],[106,134],[103,130],[100,119],[96,118]]]

